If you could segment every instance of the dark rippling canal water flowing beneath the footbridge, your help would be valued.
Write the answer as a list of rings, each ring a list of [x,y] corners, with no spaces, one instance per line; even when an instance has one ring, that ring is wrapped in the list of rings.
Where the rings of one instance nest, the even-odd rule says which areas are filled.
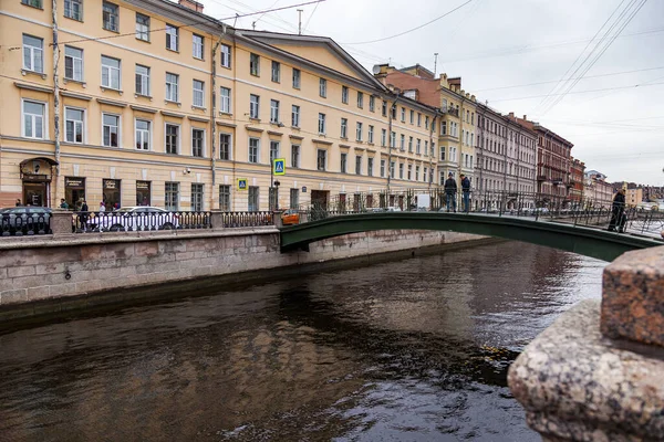
[[[518,242],[0,336],[0,441],[538,441],[507,369],[604,263]]]

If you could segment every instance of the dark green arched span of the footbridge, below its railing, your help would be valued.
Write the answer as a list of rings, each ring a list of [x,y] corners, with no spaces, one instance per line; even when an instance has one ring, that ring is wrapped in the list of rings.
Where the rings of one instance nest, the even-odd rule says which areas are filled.
[[[446,212],[386,212],[330,217],[280,230],[281,251],[289,252],[328,238],[377,230],[412,229],[475,233],[566,250],[603,261],[624,252],[664,245],[655,239],[600,229],[516,217]]]

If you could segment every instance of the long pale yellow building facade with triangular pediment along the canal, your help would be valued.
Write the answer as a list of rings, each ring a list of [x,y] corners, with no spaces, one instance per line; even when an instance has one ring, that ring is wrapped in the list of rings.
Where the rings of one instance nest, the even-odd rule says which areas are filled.
[[[432,186],[436,110],[398,97],[390,130],[394,94],[330,39],[235,30],[189,0],[56,4],[56,44],[51,1],[0,10],[0,207],[268,210]]]

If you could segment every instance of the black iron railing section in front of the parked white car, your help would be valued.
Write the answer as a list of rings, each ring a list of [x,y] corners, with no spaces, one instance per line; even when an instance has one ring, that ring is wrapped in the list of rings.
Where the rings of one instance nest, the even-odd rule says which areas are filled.
[[[210,212],[74,212],[72,231],[142,232],[157,230],[210,229]]]

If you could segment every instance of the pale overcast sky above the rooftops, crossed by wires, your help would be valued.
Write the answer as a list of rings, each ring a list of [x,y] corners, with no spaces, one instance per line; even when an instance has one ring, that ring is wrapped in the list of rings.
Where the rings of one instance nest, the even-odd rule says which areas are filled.
[[[206,13],[222,19],[305,0],[199,1]],[[563,136],[574,144],[572,155],[585,161],[587,169],[605,173],[610,181],[664,186],[664,0],[647,1],[552,107],[547,106],[551,98],[561,95],[542,102],[544,96],[566,73],[573,73],[584,56],[568,70],[599,38],[590,40],[608,20],[604,30],[615,22],[631,1],[641,0],[471,0],[405,35],[352,44],[416,28],[466,1],[326,0],[301,7],[302,33],[334,39],[369,70],[390,61],[396,67],[419,63],[433,71],[437,52],[438,73],[461,76],[461,87],[489,106],[526,114]],[[250,29],[258,20],[256,30],[297,33],[295,9],[226,22]],[[604,75],[615,73],[620,74]],[[542,82],[550,83],[532,85]]]

